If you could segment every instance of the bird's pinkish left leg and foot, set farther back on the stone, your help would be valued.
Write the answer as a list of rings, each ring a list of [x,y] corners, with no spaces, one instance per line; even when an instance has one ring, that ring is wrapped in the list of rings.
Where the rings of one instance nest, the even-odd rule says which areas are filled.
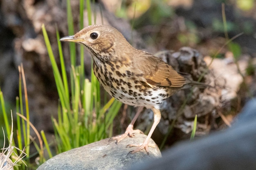
[[[134,137],[134,133],[143,133],[141,132],[139,129],[133,130],[133,124],[135,123],[135,121],[137,120],[137,118],[139,117],[139,114],[141,113],[143,107],[139,107],[139,109],[137,110],[134,118],[132,119],[132,121],[130,122],[130,124],[128,125],[128,127],[126,128],[126,131],[124,134],[122,135],[118,135],[115,137],[111,137],[109,140],[117,140],[117,143],[120,142],[121,140],[123,140],[126,137]]]

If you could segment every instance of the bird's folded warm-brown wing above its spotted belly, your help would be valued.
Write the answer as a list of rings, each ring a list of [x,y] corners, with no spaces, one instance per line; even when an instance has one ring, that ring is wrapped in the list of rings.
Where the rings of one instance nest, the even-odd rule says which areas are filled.
[[[142,52],[142,56],[137,58],[138,74],[144,74],[148,85],[182,87],[186,80],[178,74],[171,65],[168,65],[161,59],[150,53]]]

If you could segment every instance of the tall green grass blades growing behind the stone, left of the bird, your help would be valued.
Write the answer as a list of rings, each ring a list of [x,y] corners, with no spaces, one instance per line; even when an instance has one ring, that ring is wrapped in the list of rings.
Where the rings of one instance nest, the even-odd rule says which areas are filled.
[[[83,28],[83,0],[81,0],[80,3],[80,27]],[[88,7],[90,8],[90,1],[87,0],[87,3],[89,4]],[[74,26],[72,22],[72,11],[69,0],[67,0],[67,15],[69,34],[73,35]],[[91,24],[92,22],[90,17],[91,16],[89,16],[88,20]],[[47,36],[44,25],[42,26],[42,30],[49,54],[49,59],[52,63],[56,87],[59,94],[58,119],[56,120],[56,118],[52,118],[52,124],[55,132],[55,143],[49,144],[45,137],[44,131],[41,131],[39,134],[38,131],[34,128],[33,124],[29,122],[29,101],[27,98],[25,73],[23,71],[23,66],[20,65],[20,95],[19,97],[17,97],[16,101],[16,139],[12,138],[13,126],[12,129],[9,128],[10,125],[7,118],[8,112],[5,109],[2,92],[0,92],[0,100],[2,104],[2,111],[6,128],[5,130],[7,131],[7,136],[11,137],[9,139],[9,148],[12,148],[11,153],[13,153],[14,155],[17,155],[18,152],[21,152],[20,155],[24,153],[23,161],[20,161],[20,159],[22,158],[21,156],[11,157],[11,153],[8,153],[8,157],[10,157],[15,164],[20,165],[19,167],[15,166],[16,169],[26,169],[26,166],[29,166],[29,168],[31,169],[36,169],[38,165],[42,164],[45,160],[53,156],[52,148],[55,148],[54,152],[55,154],[58,154],[72,148],[77,148],[79,146],[83,146],[107,137],[111,137],[111,132],[113,128],[112,123],[122,104],[114,98],[111,98],[108,102],[103,103],[102,106],[99,82],[97,81],[93,72],[91,75],[91,82],[87,78],[85,78],[84,75],[83,47],[81,46],[80,65],[76,65],[76,46],[73,43],[70,43],[71,70],[70,79],[68,79],[61,42],[58,41],[60,39],[58,28],[56,28],[59,57],[61,61],[61,70],[58,70],[58,65],[53,55],[51,44],[49,42],[49,38]],[[22,94],[22,82],[24,87],[24,94]],[[69,87],[69,84],[71,85],[71,87]],[[23,109],[22,103],[23,95],[25,96],[25,109]],[[32,128],[36,132],[39,140],[39,146],[36,142],[36,139],[31,138],[30,128]],[[18,146],[16,146],[16,143],[12,141],[18,143]],[[34,154],[31,155],[29,151],[31,142],[33,142],[34,146],[38,151],[38,153],[34,153],[39,155],[38,165],[29,163],[29,159],[34,156]],[[4,150],[7,149],[5,148]],[[45,155],[48,155],[48,157],[45,157]]]

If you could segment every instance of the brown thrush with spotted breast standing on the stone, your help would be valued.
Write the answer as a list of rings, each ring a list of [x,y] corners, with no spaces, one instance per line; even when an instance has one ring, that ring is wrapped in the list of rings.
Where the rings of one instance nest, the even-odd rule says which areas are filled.
[[[118,143],[125,137],[140,133],[140,130],[133,129],[133,124],[141,108],[146,107],[153,111],[153,125],[144,142],[127,146],[135,147],[129,152],[131,154],[145,149],[149,155],[148,147],[155,147],[149,144],[149,140],[161,119],[162,102],[191,81],[162,59],[131,46],[110,25],[90,25],[75,35],[61,38],[60,41],[75,42],[88,49],[93,60],[94,74],[104,89],[124,104],[139,107],[126,132],[111,139]]]

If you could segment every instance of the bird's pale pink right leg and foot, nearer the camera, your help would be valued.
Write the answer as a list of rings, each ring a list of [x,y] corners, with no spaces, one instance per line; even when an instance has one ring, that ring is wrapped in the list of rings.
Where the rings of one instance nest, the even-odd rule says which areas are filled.
[[[130,144],[130,145],[127,145],[126,147],[133,147],[133,146],[136,147],[135,150],[132,150],[129,153],[134,154],[134,153],[139,152],[140,150],[145,148],[147,154],[149,155],[148,146],[155,148],[155,145],[150,145],[149,144],[149,139],[151,138],[151,136],[152,136],[152,134],[153,134],[157,124],[160,122],[161,113],[160,113],[159,109],[156,109],[155,107],[153,107],[152,110],[154,112],[154,123],[153,123],[153,125],[152,125],[152,127],[151,127],[151,129],[150,129],[150,131],[148,133],[148,136],[146,137],[144,142],[141,143],[141,144]]]

